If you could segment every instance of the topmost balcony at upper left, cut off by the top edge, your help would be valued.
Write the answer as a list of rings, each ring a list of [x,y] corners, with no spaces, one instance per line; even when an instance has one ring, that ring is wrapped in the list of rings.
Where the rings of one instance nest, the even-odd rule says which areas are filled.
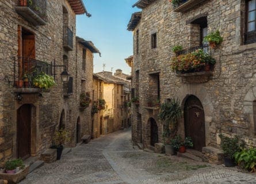
[[[47,0],[17,0],[16,11],[35,26],[46,25]]]

